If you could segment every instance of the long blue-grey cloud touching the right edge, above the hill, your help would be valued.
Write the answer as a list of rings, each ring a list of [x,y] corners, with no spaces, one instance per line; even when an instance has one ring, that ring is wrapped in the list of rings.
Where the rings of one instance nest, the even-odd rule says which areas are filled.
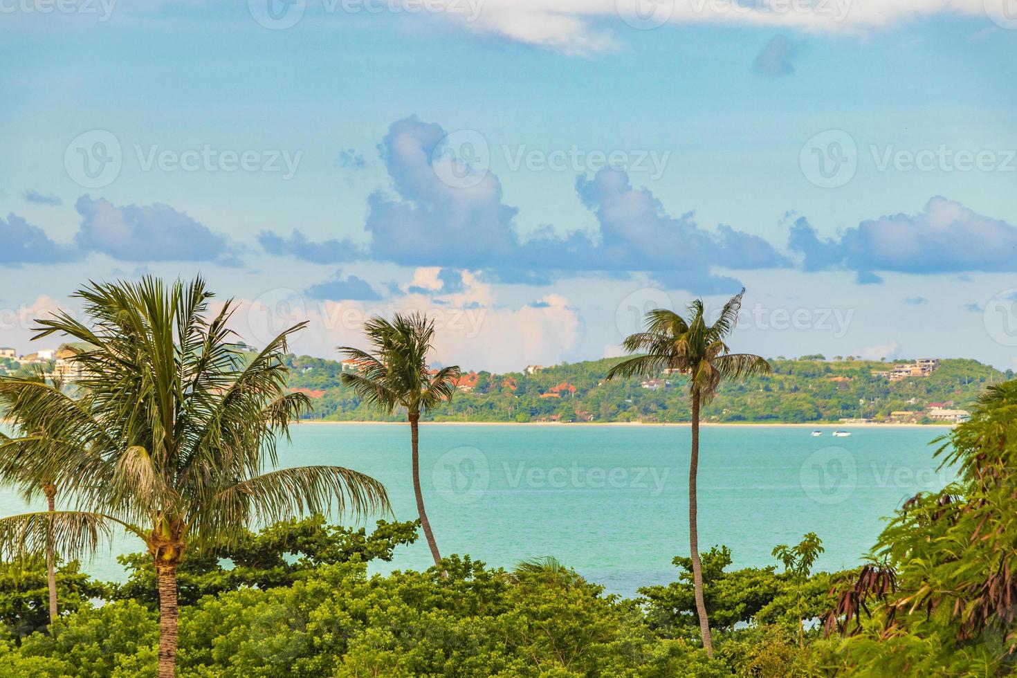
[[[1017,228],[941,196],[917,214],[864,221],[838,239],[821,239],[799,219],[788,249],[802,255],[805,270],[847,268],[862,283],[877,282],[876,271],[1017,271]]]

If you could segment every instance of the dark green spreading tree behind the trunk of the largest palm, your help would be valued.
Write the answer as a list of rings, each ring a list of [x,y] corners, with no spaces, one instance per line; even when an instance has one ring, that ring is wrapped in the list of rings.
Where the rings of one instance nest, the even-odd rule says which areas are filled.
[[[184,558],[177,569],[180,605],[193,605],[203,596],[215,596],[241,588],[289,587],[319,565],[350,561],[391,561],[397,546],[417,540],[419,521],[378,520],[368,536],[361,528],[326,525],[316,514],[303,520],[285,520],[258,534],[244,532],[235,543],[215,551]],[[159,608],[159,590],[152,555],[118,556],[127,568],[127,581],[115,585],[113,599],[133,599],[152,609]]]

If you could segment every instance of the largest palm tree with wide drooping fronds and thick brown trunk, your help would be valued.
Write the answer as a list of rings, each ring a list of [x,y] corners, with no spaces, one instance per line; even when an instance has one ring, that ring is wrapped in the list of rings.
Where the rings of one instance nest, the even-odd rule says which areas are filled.
[[[61,333],[92,347],[72,358],[87,395],[78,404],[5,380],[23,417],[47,431],[0,447],[0,467],[13,467],[44,446],[40,471],[60,474],[74,508],[0,519],[0,547],[41,551],[47,526],[72,555],[94,551],[114,529],[140,538],[159,585],[159,676],[171,678],[185,553],[228,544],[254,521],[387,509],[387,497],[376,480],[342,467],[277,468],[278,437],[310,406],[286,387],[287,338],[302,325],[249,356],[231,341],[232,301],[206,317],[213,294],[201,279],[93,283],[75,296],[88,324],[61,311],[38,321],[37,338]]]

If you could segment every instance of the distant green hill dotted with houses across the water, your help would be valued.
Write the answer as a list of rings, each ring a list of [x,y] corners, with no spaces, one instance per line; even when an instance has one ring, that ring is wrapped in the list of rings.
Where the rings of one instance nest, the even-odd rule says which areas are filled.
[[[891,363],[865,360],[772,360],[773,374],[725,383],[704,408],[705,421],[803,423],[842,418],[925,422],[932,404],[968,409],[983,386],[1013,376],[975,360],[949,359],[928,377],[890,381]],[[534,374],[478,372],[463,380],[468,392],[427,418],[431,421],[686,422],[684,378],[605,381],[620,359],[555,365]],[[340,383],[338,361],[291,356],[290,386],[308,393],[313,417],[384,421]]]

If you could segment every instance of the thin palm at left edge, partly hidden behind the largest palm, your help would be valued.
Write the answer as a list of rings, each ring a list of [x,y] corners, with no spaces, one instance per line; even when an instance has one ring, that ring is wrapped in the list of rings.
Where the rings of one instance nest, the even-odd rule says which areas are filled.
[[[63,391],[63,379],[55,375],[47,375],[41,368],[29,372],[23,378],[43,385],[49,384],[57,393]],[[0,382],[0,406],[2,406],[5,416],[13,420],[21,440],[33,440],[46,436],[46,422],[25,419],[20,412],[15,393],[5,389],[2,382]],[[0,432],[0,446],[9,443],[11,443],[11,438]],[[28,464],[0,467],[0,482],[21,487],[25,501],[32,501],[37,493],[42,491],[46,497],[48,510],[53,513],[56,510],[57,479],[40,469],[40,466],[45,463],[45,446],[38,446],[35,457],[29,456],[26,459]],[[49,612],[52,624],[60,614],[57,601],[56,544],[53,541],[52,523],[48,527],[46,540],[46,585],[49,590]]]

